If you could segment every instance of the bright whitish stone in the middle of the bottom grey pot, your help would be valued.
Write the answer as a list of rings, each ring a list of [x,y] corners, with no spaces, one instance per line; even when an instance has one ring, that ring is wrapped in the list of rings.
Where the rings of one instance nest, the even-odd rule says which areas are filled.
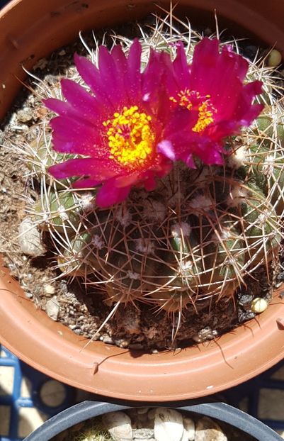
[[[157,441],[181,441],[183,417],[174,409],[157,408],[154,421],[154,437]]]

